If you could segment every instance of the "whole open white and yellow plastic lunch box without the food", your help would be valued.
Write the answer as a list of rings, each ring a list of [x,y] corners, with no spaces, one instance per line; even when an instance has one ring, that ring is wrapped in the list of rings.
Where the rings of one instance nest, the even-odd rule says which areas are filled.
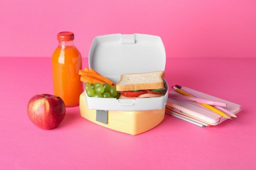
[[[165,48],[155,35],[101,35],[91,44],[89,67],[117,83],[123,73],[163,71]],[[168,93],[154,98],[105,99],[88,97],[83,92],[79,108],[81,116],[95,124],[137,135],[160,124],[167,98]]]

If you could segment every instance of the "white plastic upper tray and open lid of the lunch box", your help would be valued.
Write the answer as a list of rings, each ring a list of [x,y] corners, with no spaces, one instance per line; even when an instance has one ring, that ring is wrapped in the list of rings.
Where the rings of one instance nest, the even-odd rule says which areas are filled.
[[[161,38],[155,35],[101,35],[91,44],[89,67],[117,83],[124,73],[164,71],[165,48]],[[159,110],[165,107],[168,93],[161,97],[136,99],[89,97],[86,92],[85,96],[89,109]]]

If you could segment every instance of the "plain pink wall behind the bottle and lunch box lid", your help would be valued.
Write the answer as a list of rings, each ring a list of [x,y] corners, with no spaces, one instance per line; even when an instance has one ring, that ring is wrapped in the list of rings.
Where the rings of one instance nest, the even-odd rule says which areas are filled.
[[[83,57],[97,35],[159,35],[167,58],[256,58],[255,0],[0,1],[0,56],[51,57],[74,31]]]

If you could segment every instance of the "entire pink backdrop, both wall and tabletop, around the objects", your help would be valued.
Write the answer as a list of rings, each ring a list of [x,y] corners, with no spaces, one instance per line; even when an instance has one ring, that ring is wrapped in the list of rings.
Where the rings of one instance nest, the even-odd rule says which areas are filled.
[[[256,1],[0,1],[0,169],[256,169]],[[165,79],[242,105],[238,118],[198,127],[165,114],[140,135],[68,108],[56,129],[35,127],[29,99],[53,93],[51,55],[73,31],[88,67],[93,38],[159,35]],[[29,58],[27,58],[29,57]]]

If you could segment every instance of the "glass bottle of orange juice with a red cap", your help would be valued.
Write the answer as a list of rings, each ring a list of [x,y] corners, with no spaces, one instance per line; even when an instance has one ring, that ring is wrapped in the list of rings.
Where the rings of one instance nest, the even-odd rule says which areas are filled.
[[[64,31],[57,35],[59,45],[53,53],[53,92],[61,97],[66,107],[79,105],[83,83],[78,75],[82,69],[81,54],[74,46],[74,33]]]

